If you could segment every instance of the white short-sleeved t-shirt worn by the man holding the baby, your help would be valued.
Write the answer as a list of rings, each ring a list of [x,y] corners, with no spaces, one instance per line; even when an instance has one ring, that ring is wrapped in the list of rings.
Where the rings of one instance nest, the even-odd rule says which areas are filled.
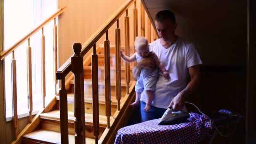
[[[149,44],[149,50],[154,51],[160,62],[167,69],[170,79],[165,80],[163,73],[159,72],[156,90],[152,105],[167,109],[171,100],[182,91],[189,82],[188,68],[202,64],[199,54],[192,43],[187,43],[179,37],[170,48],[164,48],[160,39]],[[145,91],[141,93],[141,101],[146,102]]]

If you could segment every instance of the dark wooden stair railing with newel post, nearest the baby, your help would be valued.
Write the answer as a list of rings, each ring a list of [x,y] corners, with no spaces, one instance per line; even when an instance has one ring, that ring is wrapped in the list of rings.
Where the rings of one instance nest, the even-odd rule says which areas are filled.
[[[136,8],[136,0],[128,0],[123,6],[121,6],[113,17],[107,20],[99,29],[85,42],[85,46],[82,49],[80,43],[74,43],[73,49],[75,51],[74,56],[70,57],[56,72],[56,79],[61,80],[60,94],[60,121],[61,121],[61,143],[68,143],[68,120],[67,120],[67,90],[65,90],[65,77],[69,72],[73,72],[75,75],[75,143],[85,143],[84,134],[85,128],[83,124],[84,119],[84,83],[83,83],[83,63],[81,62],[83,56],[93,48],[93,54],[91,56],[92,66],[92,96],[93,96],[93,135],[95,137],[95,143],[98,144],[99,138],[99,88],[98,88],[98,55],[96,53],[96,43],[98,40],[105,35],[104,41],[104,80],[105,80],[105,111],[107,116],[107,128],[110,128],[110,116],[111,116],[111,85],[110,85],[110,42],[108,38],[109,28],[116,23],[115,29],[115,68],[116,68],[116,99],[117,109],[120,110],[120,99],[121,99],[121,61],[120,61],[120,28],[119,20],[123,13],[125,15],[125,54],[130,55],[130,28],[129,28],[129,16],[128,8],[134,3],[133,17],[134,17],[134,39],[138,36],[138,12]],[[142,11],[144,11],[143,6]],[[144,13],[144,12],[143,12]],[[143,15],[144,17],[144,15]],[[145,23],[142,23],[141,30],[144,32]],[[82,50],[81,50],[82,49]],[[81,51],[79,51],[81,50]],[[134,50],[133,50],[134,52]],[[79,62],[73,60],[79,59]],[[73,60],[73,61],[72,61]],[[76,70],[73,70],[76,69]],[[130,85],[130,64],[125,64],[125,82],[126,82],[126,93],[129,93]],[[77,78],[76,78],[77,77]],[[80,77],[80,79],[78,79]],[[62,99],[62,100],[61,100]]]

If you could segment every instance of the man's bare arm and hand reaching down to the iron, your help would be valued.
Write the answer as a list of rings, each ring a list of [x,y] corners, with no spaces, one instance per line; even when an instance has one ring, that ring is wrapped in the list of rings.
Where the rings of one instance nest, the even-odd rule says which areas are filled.
[[[181,92],[179,92],[171,101],[170,106],[173,106],[173,111],[179,111],[183,108],[184,102],[187,97],[196,92],[197,88],[200,85],[200,67],[195,65],[189,67],[189,76],[190,81]]]

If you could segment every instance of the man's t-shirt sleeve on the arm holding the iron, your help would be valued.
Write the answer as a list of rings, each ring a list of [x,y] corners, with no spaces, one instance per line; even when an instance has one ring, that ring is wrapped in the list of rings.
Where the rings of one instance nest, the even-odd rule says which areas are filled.
[[[195,49],[195,45],[190,44],[187,50],[187,67],[192,67],[198,64],[203,64],[197,50]]]

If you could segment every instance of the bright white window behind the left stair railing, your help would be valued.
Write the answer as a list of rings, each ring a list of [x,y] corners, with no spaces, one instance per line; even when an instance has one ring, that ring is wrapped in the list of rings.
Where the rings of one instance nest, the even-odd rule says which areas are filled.
[[[4,0],[4,49],[10,48],[57,11],[57,0]],[[54,95],[53,21],[44,27],[46,96]],[[15,50],[18,115],[28,113],[27,42]],[[41,72],[41,30],[30,38],[32,48],[33,111],[43,108]],[[5,58],[6,117],[13,115],[12,54]]]

